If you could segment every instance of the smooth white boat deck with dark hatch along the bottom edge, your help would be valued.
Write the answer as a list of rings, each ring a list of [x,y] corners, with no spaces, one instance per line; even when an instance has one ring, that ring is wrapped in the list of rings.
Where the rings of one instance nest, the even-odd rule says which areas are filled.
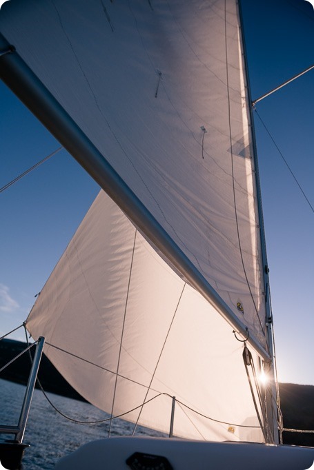
[[[55,469],[305,470],[314,468],[313,460],[314,448],[306,447],[121,437],[90,442],[59,460]]]

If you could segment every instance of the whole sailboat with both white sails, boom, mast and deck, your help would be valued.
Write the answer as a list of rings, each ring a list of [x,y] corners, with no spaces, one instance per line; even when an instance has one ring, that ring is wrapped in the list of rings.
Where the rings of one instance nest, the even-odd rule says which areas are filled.
[[[313,463],[313,449],[279,445],[240,25],[234,0],[1,9],[1,79],[104,190],[26,327],[112,419],[179,438],[101,440],[59,469]]]

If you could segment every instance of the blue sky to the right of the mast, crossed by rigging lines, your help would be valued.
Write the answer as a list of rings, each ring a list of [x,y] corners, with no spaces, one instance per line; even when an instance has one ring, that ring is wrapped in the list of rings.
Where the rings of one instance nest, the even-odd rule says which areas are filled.
[[[314,12],[304,0],[242,4],[254,100],[314,64]],[[314,70],[256,109],[313,207]],[[256,115],[255,130],[279,380],[314,385],[314,214]]]

